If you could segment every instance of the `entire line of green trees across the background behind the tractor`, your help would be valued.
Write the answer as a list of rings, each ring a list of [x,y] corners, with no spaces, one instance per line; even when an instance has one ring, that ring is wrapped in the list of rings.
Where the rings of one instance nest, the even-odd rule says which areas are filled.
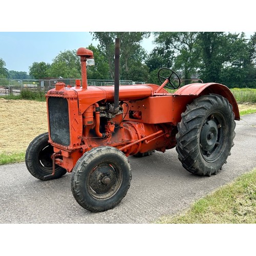
[[[142,48],[152,32],[91,32],[99,41],[90,45],[95,66],[87,67],[88,79],[114,79],[115,38],[120,38],[120,79],[159,84],[158,70],[171,68],[182,79],[200,78],[232,87],[256,88],[256,32],[244,33],[154,32],[155,48]],[[0,58],[0,78],[26,79],[26,72],[8,71]],[[33,62],[29,78],[80,78],[80,58],[76,50],[60,52],[51,64]]]

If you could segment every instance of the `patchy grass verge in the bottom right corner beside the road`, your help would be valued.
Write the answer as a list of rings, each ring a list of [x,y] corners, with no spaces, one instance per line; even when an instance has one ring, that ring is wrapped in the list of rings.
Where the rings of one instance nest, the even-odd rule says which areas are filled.
[[[160,218],[158,224],[255,224],[256,168],[198,200],[179,216]]]

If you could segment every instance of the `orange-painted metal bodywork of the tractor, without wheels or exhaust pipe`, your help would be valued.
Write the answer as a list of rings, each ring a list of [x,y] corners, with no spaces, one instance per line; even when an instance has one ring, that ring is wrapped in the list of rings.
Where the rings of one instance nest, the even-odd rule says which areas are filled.
[[[114,112],[114,86],[94,87],[87,84],[86,60],[93,57],[93,52],[79,48],[77,55],[81,58],[82,87],[80,80],[76,81],[76,87],[56,83],[55,89],[46,95],[48,110],[50,97],[67,102],[67,110],[59,108],[60,113],[54,118],[50,117],[48,111],[48,123],[50,118],[53,123],[53,128],[50,125],[48,128],[49,142],[54,152],[61,152],[55,163],[68,172],[72,172],[84,153],[98,146],[116,147],[126,156],[151,150],[164,152],[173,148],[181,114],[185,112],[187,104],[203,94],[218,93],[226,97],[233,106],[236,119],[240,118],[231,92],[218,83],[189,84],[175,94],[164,89],[166,81],[160,87],[156,84],[120,86],[119,111]],[[68,116],[68,127],[62,123],[62,116]],[[67,128],[63,136],[69,139],[69,145],[52,140],[50,129],[56,129],[52,132],[59,133],[58,127]]]

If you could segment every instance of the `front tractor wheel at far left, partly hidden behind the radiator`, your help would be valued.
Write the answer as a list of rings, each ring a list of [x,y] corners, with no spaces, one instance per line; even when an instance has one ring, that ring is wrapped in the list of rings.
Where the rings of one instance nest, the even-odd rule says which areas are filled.
[[[48,133],[43,133],[34,138],[29,144],[25,155],[27,169],[39,180],[57,179],[67,173],[66,169],[55,165],[55,175],[45,177],[52,174],[53,170],[51,156],[54,151],[53,146],[48,143],[48,139]]]

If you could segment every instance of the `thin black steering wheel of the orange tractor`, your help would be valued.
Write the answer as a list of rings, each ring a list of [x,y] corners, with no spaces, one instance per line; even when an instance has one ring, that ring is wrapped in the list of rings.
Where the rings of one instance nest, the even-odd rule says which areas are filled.
[[[160,75],[161,74],[161,75]],[[170,75],[169,75],[170,74]],[[168,79],[168,83],[170,84],[170,86],[168,85],[168,83],[166,84],[166,87],[168,89],[177,89],[180,87],[180,78],[177,75],[176,72],[174,72],[171,69],[168,68],[161,68],[158,71],[158,79],[161,83],[163,83],[166,79]]]

